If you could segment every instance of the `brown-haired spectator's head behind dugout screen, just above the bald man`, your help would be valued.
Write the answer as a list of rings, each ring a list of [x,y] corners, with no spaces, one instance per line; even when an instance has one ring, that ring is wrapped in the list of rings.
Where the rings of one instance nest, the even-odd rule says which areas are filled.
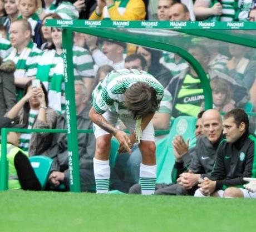
[[[213,93],[213,108],[224,111],[227,104],[233,105],[232,89],[227,80],[214,78],[210,81],[211,91]],[[232,108],[232,106],[230,106]],[[235,106],[233,105],[233,108]]]

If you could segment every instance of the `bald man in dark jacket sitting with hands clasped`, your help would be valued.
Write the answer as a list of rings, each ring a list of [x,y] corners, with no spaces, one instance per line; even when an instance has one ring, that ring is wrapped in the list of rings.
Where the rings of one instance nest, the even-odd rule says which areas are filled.
[[[215,109],[206,110],[202,115],[204,135],[196,142],[195,155],[191,160],[188,173],[180,174],[177,182],[181,188],[177,189],[177,195],[194,195],[201,179],[209,177],[213,170],[216,150],[221,140],[222,119]]]

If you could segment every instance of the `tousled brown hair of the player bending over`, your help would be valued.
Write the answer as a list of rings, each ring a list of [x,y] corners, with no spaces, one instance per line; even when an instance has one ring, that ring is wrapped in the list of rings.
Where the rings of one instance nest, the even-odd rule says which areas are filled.
[[[156,112],[159,103],[156,90],[145,82],[137,82],[125,91],[125,104],[134,119]]]

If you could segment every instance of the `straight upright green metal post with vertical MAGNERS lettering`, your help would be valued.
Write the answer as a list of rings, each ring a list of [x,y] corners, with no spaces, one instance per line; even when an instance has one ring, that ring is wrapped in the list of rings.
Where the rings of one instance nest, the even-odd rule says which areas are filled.
[[[70,169],[70,191],[80,192],[80,168],[77,142],[75,84],[73,75],[73,38],[72,31],[64,29],[62,32],[65,96],[66,96],[66,120],[67,120],[67,144],[68,166]]]

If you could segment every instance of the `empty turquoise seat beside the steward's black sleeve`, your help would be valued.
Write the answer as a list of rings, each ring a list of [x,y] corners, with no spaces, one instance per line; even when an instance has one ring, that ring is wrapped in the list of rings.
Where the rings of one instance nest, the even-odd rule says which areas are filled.
[[[35,170],[38,180],[40,181],[42,190],[44,190],[47,184],[48,176],[50,175],[53,160],[44,155],[35,155],[33,157],[29,157],[29,161]]]

